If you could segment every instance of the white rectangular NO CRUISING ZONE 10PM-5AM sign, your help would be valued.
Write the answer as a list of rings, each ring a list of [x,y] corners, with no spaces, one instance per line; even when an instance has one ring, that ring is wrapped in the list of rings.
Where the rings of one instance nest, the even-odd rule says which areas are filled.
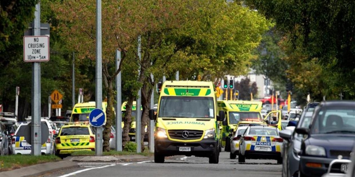
[[[23,36],[23,61],[49,61],[49,36]]]

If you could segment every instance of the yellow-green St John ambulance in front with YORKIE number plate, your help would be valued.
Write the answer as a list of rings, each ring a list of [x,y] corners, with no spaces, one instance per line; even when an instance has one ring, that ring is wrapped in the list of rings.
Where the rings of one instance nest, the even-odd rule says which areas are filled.
[[[155,120],[154,162],[164,163],[166,156],[195,155],[208,157],[210,164],[219,162],[221,141],[218,112],[212,82],[165,81],[159,96]]]

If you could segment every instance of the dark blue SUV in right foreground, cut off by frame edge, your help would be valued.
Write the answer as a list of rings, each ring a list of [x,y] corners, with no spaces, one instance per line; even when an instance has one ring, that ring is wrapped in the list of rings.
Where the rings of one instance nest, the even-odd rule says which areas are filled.
[[[355,142],[355,101],[322,102],[314,110],[309,128],[297,128],[296,133],[307,135],[301,144],[299,176],[322,176],[332,160],[350,158]],[[340,165],[332,170],[342,172]]]

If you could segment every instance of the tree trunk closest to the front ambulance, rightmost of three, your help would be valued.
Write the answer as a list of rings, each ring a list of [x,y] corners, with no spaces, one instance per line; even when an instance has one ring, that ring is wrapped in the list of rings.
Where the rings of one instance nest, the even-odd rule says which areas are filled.
[[[150,77],[150,76],[149,76]],[[149,78],[146,79],[146,81],[143,84],[141,93],[142,93],[142,108],[143,108],[143,112],[142,112],[142,124],[141,124],[141,147],[142,147],[142,152],[144,152],[144,135],[146,134],[145,127],[148,125],[148,121],[149,121],[149,109],[153,109],[151,108],[150,104],[151,104],[151,97],[152,97],[152,91],[153,91],[153,87],[150,87],[150,80]],[[148,130],[149,131],[149,130]]]

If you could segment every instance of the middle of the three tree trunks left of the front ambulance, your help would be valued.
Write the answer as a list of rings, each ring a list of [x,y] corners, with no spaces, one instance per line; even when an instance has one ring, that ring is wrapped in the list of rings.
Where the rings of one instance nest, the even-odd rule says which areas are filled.
[[[126,115],[123,118],[124,121],[124,127],[123,127],[123,132],[122,132],[122,145],[125,146],[127,142],[130,141],[130,137],[128,135],[130,128],[131,128],[131,123],[132,123],[132,105],[133,105],[133,100],[135,97],[130,94],[127,100],[126,104]],[[121,111],[118,111],[121,113]]]

